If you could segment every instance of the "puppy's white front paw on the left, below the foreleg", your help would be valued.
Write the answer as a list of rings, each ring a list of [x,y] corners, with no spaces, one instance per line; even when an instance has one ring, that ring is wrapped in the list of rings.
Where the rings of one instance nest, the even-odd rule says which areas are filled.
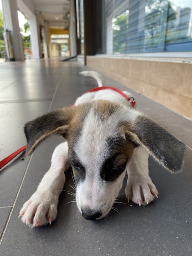
[[[19,217],[30,227],[51,224],[57,215],[58,196],[36,191],[20,210]]]

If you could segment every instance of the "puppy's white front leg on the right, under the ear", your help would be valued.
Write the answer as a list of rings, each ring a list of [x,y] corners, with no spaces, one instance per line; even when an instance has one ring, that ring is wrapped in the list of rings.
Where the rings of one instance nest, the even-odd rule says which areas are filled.
[[[128,202],[145,205],[158,197],[158,191],[153,184],[148,170],[148,153],[141,147],[134,151],[134,155],[127,166],[128,180],[126,197]]]

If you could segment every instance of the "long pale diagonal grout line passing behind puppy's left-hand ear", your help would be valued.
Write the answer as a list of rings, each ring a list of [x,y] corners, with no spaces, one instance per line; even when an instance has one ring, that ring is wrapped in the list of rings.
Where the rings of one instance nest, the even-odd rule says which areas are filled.
[[[58,82],[58,84],[57,84],[57,87],[56,87],[55,93],[54,93],[54,95],[53,95],[52,102],[51,102],[51,104],[50,104],[50,107],[49,107],[48,112],[50,111],[50,108],[51,108],[51,106],[52,106],[53,100],[54,100],[54,98],[55,98],[57,89],[58,89],[59,84],[60,84],[60,81],[61,81],[61,78],[60,78],[60,80],[59,80],[59,82]],[[17,192],[17,194],[16,194],[15,200],[14,200],[14,202],[13,202],[13,206],[11,207],[10,213],[9,213],[8,218],[7,218],[7,221],[6,221],[6,224],[5,224],[4,229],[3,229],[3,231],[2,231],[2,235],[0,236],[0,245],[1,245],[2,240],[3,240],[3,238],[4,238],[4,234],[5,234],[5,232],[6,232],[6,229],[7,229],[7,226],[8,226],[8,224],[9,224],[9,221],[10,221],[10,218],[11,218],[11,215],[12,215],[12,212],[13,212],[13,209],[14,209],[14,206],[15,206],[16,201],[17,201],[17,198],[18,198],[18,196],[19,196],[19,193],[20,193],[22,184],[23,184],[23,182],[24,182],[26,173],[27,173],[27,171],[28,171],[30,162],[31,162],[31,160],[32,160],[32,156],[33,156],[33,154],[32,154],[31,157],[30,157],[30,160],[29,160],[28,165],[27,165],[27,167],[26,167],[26,170],[25,170],[24,176],[23,176],[23,178],[22,178],[21,184],[20,184],[20,186],[19,186],[18,192]]]

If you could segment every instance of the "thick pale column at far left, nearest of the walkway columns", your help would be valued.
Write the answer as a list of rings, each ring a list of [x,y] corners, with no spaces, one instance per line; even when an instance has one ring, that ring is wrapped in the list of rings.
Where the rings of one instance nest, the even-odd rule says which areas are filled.
[[[11,31],[15,60],[24,60],[23,44],[18,21],[16,0],[2,0],[4,30]],[[8,49],[6,49],[8,50]]]

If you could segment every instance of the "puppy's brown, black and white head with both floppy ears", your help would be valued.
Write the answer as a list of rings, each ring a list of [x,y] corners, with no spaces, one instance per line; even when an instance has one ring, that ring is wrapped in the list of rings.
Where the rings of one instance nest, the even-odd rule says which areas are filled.
[[[77,206],[90,220],[112,208],[136,146],[171,172],[183,165],[182,142],[141,112],[104,100],[49,112],[28,122],[25,134],[28,155],[52,134],[68,141]]]

